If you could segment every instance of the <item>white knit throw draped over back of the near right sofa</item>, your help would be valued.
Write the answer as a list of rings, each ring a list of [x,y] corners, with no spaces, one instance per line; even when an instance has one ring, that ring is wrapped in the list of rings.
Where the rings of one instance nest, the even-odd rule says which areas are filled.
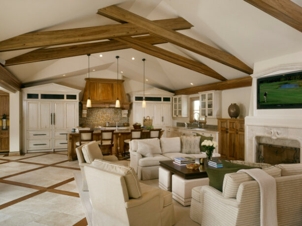
[[[276,180],[262,169],[240,169],[253,177],[260,188],[261,226],[278,226]]]

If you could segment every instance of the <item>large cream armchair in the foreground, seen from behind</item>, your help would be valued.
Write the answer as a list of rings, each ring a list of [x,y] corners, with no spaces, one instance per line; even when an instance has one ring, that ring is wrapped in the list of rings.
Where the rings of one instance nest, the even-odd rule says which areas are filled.
[[[110,165],[104,169],[94,167],[93,164],[84,167],[92,203],[93,226],[174,225],[170,192],[138,183],[131,167],[124,167],[129,177],[132,177],[126,178],[110,170]],[[137,188],[136,193],[140,197],[130,198],[130,189]]]

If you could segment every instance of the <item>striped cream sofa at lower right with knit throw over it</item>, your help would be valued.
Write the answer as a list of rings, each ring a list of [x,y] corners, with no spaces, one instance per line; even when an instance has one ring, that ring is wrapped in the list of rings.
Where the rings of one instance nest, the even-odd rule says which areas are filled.
[[[278,225],[302,225],[302,164],[263,170],[276,180]],[[195,187],[190,217],[202,226],[260,226],[259,184],[236,172],[225,175],[222,192],[211,186]]]

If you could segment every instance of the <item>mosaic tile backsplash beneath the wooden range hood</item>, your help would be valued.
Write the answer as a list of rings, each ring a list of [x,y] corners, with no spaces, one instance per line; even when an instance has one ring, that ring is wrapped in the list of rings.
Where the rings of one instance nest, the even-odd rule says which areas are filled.
[[[127,117],[122,117],[122,109],[89,108],[86,118],[79,117],[79,126],[105,126],[106,122],[129,123],[129,112]]]

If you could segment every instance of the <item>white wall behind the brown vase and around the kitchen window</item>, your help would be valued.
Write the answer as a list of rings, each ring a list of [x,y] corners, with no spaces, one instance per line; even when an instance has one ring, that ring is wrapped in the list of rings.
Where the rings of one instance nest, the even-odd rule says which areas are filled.
[[[236,103],[240,108],[240,114],[238,118],[244,118],[249,113],[249,105],[250,105],[250,94],[251,94],[251,86],[235,88],[235,89],[226,89],[222,91],[222,118],[230,118],[228,114],[228,108],[231,103]],[[196,94],[189,95],[190,97],[196,96]],[[190,107],[188,106],[188,109]],[[189,112],[189,111],[188,111]],[[177,117],[173,118],[174,125],[176,122],[189,122],[190,117]],[[216,118],[207,118],[207,125],[217,125]]]

